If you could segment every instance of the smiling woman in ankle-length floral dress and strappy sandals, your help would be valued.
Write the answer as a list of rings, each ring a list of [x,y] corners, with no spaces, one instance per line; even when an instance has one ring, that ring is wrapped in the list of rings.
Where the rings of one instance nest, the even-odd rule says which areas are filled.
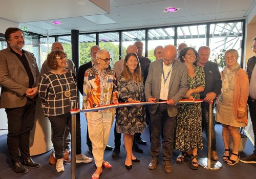
[[[187,85],[185,99],[200,99],[200,93],[204,91],[204,70],[195,65],[197,51],[194,48],[185,48],[180,52],[179,58],[187,66]],[[176,149],[181,150],[176,163],[182,164],[186,150],[191,149],[191,169],[198,169],[197,150],[203,149],[202,140],[202,114],[201,103],[180,104],[176,120]]]

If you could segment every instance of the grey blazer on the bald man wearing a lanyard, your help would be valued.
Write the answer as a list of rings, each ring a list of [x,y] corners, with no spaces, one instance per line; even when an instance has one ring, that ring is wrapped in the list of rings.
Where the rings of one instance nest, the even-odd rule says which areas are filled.
[[[148,75],[145,82],[145,98],[154,97],[159,101],[161,91],[162,78],[162,60],[154,61],[150,64]],[[178,103],[187,91],[187,68],[184,63],[177,60],[173,63],[173,70],[169,81],[168,99],[173,99]],[[148,105],[151,114],[156,113],[158,104]],[[178,106],[168,106],[169,117],[174,117],[178,114]]]

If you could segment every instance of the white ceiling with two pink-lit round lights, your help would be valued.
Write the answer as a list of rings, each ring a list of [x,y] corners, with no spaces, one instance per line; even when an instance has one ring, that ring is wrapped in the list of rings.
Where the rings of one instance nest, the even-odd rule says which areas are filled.
[[[245,19],[255,5],[256,0],[110,0],[110,7],[100,0],[23,0],[18,5],[8,0],[1,2],[0,18],[16,21],[30,32],[61,35],[72,29],[87,33]],[[164,12],[168,7],[179,10]],[[62,24],[53,25],[54,20]]]

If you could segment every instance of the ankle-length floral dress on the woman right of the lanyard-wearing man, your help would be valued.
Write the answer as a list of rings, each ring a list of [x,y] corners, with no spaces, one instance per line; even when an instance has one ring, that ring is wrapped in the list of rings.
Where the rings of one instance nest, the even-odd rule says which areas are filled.
[[[187,85],[188,89],[205,87],[204,70],[201,66],[195,66],[195,75],[193,78],[187,77]],[[191,94],[191,96],[200,99],[200,94]],[[190,148],[203,149],[201,103],[179,104],[175,146],[181,151]]]

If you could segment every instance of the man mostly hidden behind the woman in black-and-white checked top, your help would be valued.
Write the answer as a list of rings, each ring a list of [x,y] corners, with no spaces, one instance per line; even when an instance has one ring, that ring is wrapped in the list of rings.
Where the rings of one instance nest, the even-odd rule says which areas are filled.
[[[60,51],[64,52],[62,44],[58,41],[56,41],[52,44],[51,51],[56,51],[56,50],[60,50]],[[71,70],[72,72],[74,72],[76,74],[76,68],[75,68],[75,64],[73,63],[73,61],[70,59],[67,59],[67,64],[68,64],[67,69]],[[47,60],[45,60],[44,63],[42,63],[40,74],[44,75],[46,72],[50,72],[50,71],[51,71],[51,69],[47,65]],[[71,153],[71,148],[69,146],[69,144],[71,142],[71,135],[70,135],[70,129],[68,126],[66,127],[66,130],[65,130],[64,141],[65,141],[65,143],[63,143],[63,151],[68,150],[69,153]]]

